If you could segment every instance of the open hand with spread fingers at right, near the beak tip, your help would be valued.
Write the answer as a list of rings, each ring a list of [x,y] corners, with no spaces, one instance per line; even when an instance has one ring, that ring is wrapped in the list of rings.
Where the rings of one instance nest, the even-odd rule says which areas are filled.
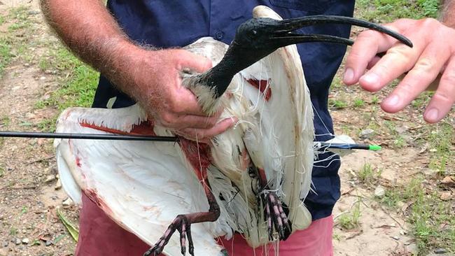
[[[346,59],[344,83],[359,83],[363,89],[376,92],[407,72],[395,90],[381,102],[384,111],[395,113],[427,90],[442,74],[423,114],[426,122],[439,122],[455,103],[455,29],[430,18],[397,20],[386,27],[407,36],[414,48],[377,31],[363,31]],[[386,55],[377,57],[381,52]],[[370,71],[365,73],[366,69]]]

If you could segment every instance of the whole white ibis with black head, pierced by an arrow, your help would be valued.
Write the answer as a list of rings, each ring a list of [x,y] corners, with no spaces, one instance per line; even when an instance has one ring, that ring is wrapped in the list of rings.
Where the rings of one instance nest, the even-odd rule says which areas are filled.
[[[409,44],[392,31],[349,17],[281,20],[265,6],[256,7],[253,16],[237,29],[229,47],[201,38],[185,48],[216,66],[202,74],[183,73],[183,85],[206,113],[223,106],[221,118],[237,118],[234,129],[208,145],[184,138],[179,143],[55,140],[66,192],[78,203],[85,193],[118,225],[153,245],[145,255],[184,255],[187,243],[191,255],[223,255],[218,236],[239,232],[257,247],[310,224],[302,199],[311,184],[313,113],[292,44],[351,41],[296,34],[295,29],[322,22],[356,24]],[[69,108],[60,115],[57,131],[174,135],[154,125],[139,105]]]

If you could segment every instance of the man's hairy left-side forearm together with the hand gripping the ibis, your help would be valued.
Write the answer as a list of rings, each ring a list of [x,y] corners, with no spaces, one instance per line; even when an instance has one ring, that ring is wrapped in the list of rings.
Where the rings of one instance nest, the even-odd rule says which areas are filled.
[[[41,0],[43,13],[62,41],[81,59],[139,101],[148,114],[186,138],[208,142],[234,120],[206,117],[180,71],[206,71],[211,62],[186,50],[146,50],[134,45],[99,0]],[[217,123],[218,122],[218,123]]]

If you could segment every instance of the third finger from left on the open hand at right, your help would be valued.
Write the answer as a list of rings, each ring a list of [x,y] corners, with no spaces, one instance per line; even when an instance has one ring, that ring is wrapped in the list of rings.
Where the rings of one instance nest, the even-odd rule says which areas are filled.
[[[415,66],[407,73],[393,92],[381,103],[381,108],[389,113],[401,111],[413,99],[425,91],[437,78],[442,66],[450,57],[450,52],[441,51],[440,45],[428,45]]]

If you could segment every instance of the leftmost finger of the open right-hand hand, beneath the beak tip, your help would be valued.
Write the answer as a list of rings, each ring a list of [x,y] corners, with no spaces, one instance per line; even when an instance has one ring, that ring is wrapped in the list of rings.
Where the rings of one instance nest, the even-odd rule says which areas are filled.
[[[387,27],[398,31],[391,25]],[[386,51],[396,42],[394,38],[377,31],[367,30],[360,33],[346,58],[343,82],[346,85],[357,83],[377,53]]]

